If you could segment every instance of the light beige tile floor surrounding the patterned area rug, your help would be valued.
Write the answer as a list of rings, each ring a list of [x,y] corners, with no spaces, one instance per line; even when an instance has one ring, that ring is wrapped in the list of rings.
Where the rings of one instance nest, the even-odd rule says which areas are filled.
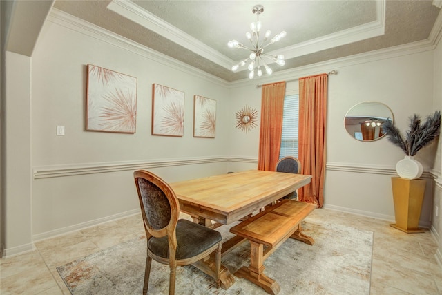
[[[329,209],[316,209],[309,218],[374,231],[370,294],[442,295],[442,268],[429,231],[405,234],[384,220]],[[70,294],[55,267],[142,234],[135,215],[35,242],[35,251],[0,260],[0,294]]]

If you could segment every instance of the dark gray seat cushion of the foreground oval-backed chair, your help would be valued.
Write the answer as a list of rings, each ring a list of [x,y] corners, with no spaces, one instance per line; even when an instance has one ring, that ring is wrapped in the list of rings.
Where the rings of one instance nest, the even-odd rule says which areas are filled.
[[[218,231],[185,219],[178,220],[176,235],[177,260],[197,256],[222,240],[221,234]],[[147,242],[147,247],[153,254],[162,258],[169,258],[167,236],[150,238]]]

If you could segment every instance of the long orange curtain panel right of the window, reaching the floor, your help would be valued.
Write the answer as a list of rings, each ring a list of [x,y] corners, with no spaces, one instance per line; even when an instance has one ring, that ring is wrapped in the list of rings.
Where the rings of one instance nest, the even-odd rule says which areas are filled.
[[[312,178],[298,189],[298,199],[318,207],[324,204],[327,81],[327,74],[299,79],[298,158],[302,174]]]

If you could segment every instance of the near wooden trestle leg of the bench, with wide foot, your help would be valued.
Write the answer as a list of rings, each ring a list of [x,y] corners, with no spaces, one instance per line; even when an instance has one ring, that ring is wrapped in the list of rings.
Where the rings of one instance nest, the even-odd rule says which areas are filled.
[[[235,272],[238,278],[246,278],[252,283],[265,289],[265,292],[275,295],[280,292],[280,285],[276,280],[266,276],[263,272],[264,266],[264,245],[250,241],[250,265],[249,267],[241,267]]]

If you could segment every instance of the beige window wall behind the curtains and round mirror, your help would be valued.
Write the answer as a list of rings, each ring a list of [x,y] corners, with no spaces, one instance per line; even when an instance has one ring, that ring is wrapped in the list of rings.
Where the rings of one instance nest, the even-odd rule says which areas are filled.
[[[402,51],[378,59],[361,55],[291,73],[292,77],[302,77],[338,70],[338,75],[329,75],[325,207],[394,220],[391,177],[397,176],[396,162],[405,154],[386,139],[374,142],[354,140],[345,130],[344,117],[349,108],[359,102],[383,102],[392,109],[401,130],[407,129],[410,115],[432,113],[432,62],[432,50],[413,54]],[[286,77],[273,79],[290,80]],[[297,86],[298,81],[288,82],[287,91],[297,92]],[[246,85],[233,88],[232,93],[234,108],[240,108],[242,104],[259,108],[260,90]],[[257,154],[258,136],[258,131],[247,136],[233,133],[235,146],[231,146],[232,153],[243,155],[250,149]],[[431,149],[424,149],[416,156],[426,171],[433,165],[432,154]],[[431,185],[430,174],[425,173],[424,178]],[[421,225],[431,225],[431,210],[432,193],[427,190]]]

